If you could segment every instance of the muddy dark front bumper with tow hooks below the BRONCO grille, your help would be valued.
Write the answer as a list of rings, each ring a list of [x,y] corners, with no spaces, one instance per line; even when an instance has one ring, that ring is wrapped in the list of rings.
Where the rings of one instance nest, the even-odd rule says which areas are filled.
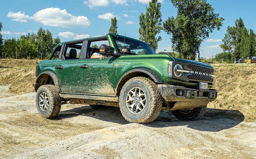
[[[216,89],[190,89],[183,86],[158,84],[158,88],[167,102],[175,102],[170,110],[194,109],[203,107],[217,98]]]

